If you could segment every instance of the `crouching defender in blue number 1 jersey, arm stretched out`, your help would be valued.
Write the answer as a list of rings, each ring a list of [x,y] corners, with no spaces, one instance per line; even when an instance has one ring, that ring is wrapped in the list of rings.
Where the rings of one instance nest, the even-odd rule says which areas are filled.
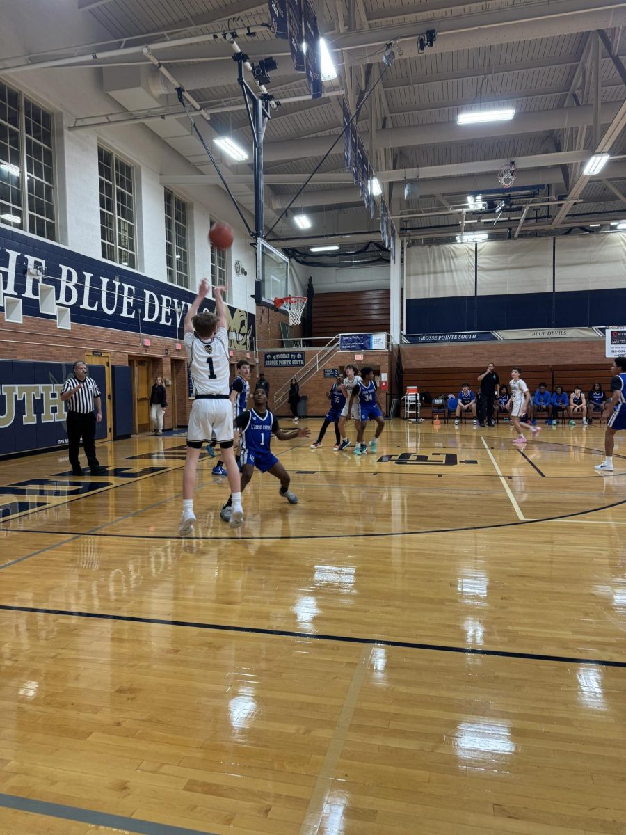
[[[287,473],[278,458],[270,451],[270,440],[275,435],[279,441],[291,438],[308,438],[310,429],[281,429],[278,419],[267,407],[267,394],[264,388],[257,388],[252,397],[252,408],[235,418],[235,428],[241,431],[241,490],[250,482],[255,468],[261,473],[271,473],[280,479],[280,495],[289,504],[298,504],[298,497],[290,491],[290,474]],[[220,511],[220,519],[230,522],[232,496]]]

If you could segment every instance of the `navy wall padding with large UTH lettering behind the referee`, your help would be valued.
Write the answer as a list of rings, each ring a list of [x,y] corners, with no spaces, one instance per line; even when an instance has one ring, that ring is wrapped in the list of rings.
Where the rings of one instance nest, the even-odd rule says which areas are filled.
[[[0,360],[0,455],[67,446],[63,383],[72,376],[72,363]],[[107,434],[105,369],[90,366],[102,392],[102,423],[96,440]]]

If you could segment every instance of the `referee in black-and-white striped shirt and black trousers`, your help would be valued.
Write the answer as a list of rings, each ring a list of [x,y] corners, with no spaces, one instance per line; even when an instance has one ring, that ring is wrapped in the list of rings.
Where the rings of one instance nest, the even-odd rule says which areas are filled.
[[[102,420],[102,403],[100,390],[91,377],[87,376],[87,364],[74,362],[73,376],[65,381],[61,400],[68,403],[66,425],[68,427],[69,463],[72,464],[74,475],[83,475],[83,468],[78,462],[78,450],[83,439],[83,449],[87,456],[87,463],[92,475],[105,475],[106,469],[100,467],[96,458],[96,445],[93,438],[96,434],[96,423]],[[95,414],[93,408],[95,407]]]

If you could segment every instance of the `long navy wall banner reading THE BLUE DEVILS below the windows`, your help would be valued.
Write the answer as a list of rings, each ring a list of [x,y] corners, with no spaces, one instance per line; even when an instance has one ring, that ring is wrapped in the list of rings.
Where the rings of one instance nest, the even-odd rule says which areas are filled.
[[[36,271],[41,271],[38,276]],[[54,318],[39,310],[39,284],[54,287],[58,306],[79,325],[110,327],[145,336],[182,339],[183,321],[195,294],[154,281],[123,266],[81,256],[48,240],[0,229],[0,280],[5,297],[20,298],[23,316]],[[207,299],[200,310],[212,311]],[[228,308],[230,347],[250,348],[255,316]]]

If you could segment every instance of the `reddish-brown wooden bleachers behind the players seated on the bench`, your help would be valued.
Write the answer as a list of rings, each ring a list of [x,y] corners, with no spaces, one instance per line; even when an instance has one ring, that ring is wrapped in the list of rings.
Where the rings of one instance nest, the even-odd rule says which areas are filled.
[[[534,394],[540,382],[545,382],[551,392],[557,386],[563,386],[563,389],[571,394],[574,386],[580,386],[583,392],[587,394],[594,382],[602,383],[604,392],[608,394],[611,377],[608,372],[610,361],[604,363],[588,363],[587,365],[530,365],[523,364],[523,379],[528,383],[531,395]],[[420,394],[423,392],[430,392],[432,397],[437,397],[440,394],[447,395],[450,392],[457,397],[458,392],[461,391],[463,382],[468,382],[473,392],[478,392],[480,383],[477,381],[479,374],[485,370],[484,367],[435,367],[435,368],[411,368],[404,367],[404,386],[417,386]],[[496,368],[500,376],[500,382],[508,384],[510,377],[510,368],[504,367]],[[430,416],[430,404],[422,406],[423,417]]]

